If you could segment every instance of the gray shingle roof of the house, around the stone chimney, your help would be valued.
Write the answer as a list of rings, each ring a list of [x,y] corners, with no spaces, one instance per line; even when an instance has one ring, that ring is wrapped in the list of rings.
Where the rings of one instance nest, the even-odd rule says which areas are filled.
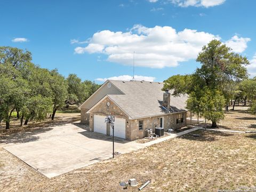
[[[146,81],[114,81],[109,80],[124,94],[108,94],[131,118],[164,115],[185,111],[187,95],[173,97],[171,95],[170,109],[162,107],[163,83]],[[170,91],[172,93],[172,91]]]

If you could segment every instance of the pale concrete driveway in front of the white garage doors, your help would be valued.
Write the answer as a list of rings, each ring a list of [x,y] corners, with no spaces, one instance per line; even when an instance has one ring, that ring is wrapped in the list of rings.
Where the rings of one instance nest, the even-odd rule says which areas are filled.
[[[48,178],[112,157],[112,138],[86,131],[81,124],[54,126],[38,133],[37,141],[9,145],[7,151]],[[138,142],[115,138],[115,151],[124,154],[143,148]]]

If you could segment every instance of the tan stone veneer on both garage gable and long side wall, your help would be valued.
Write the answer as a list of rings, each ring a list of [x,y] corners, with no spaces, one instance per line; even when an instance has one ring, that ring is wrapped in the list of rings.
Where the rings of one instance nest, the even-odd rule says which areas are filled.
[[[110,102],[110,106],[107,106],[107,102]],[[82,113],[82,109],[81,109]],[[184,114],[183,123],[176,124],[176,117],[178,114]],[[167,114],[161,116],[154,116],[154,117],[147,117],[147,118],[140,118],[140,119],[129,119],[124,111],[119,108],[113,101],[109,98],[103,100],[98,106],[90,111],[90,131],[93,131],[93,117],[94,115],[113,115],[116,118],[125,118],[126,119],[126,139],[127,140],[135,140],[141,139],[143,137],[147,137],[146,129],[153,129],[155,132],[155,127],[160,126],[160,118],[163,117],[164,119],[164,130],[167,131],[168,129],[179,129],[180,127],[186,126],[186,116],[187,111],[177,113],[177,114]],[[139,130],[139,121],[143,120],[143,130]],[[82,122],[82,114],[81,114],[81,122]],[[110,127],[107,126],[107,134],[110,134]]]

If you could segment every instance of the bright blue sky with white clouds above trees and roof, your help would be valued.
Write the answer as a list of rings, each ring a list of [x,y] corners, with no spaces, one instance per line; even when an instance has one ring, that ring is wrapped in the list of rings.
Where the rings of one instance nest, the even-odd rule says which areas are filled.
[[[192,73],[201,47],[217,38],[245,55],[255,76],[255,7],[252,0],[1,0],[0,46],[97,83],[129,80],[135,52],[137,80],[164,81]]]

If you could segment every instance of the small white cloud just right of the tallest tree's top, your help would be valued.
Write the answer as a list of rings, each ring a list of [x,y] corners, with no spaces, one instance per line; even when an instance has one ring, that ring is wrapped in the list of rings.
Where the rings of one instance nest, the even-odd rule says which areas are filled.
[[[237,35],[231,37],[225,44],[231,47],[234,52],[242,53],[247,48],[247,43],[251,41],[250,38],[238,37]]]

